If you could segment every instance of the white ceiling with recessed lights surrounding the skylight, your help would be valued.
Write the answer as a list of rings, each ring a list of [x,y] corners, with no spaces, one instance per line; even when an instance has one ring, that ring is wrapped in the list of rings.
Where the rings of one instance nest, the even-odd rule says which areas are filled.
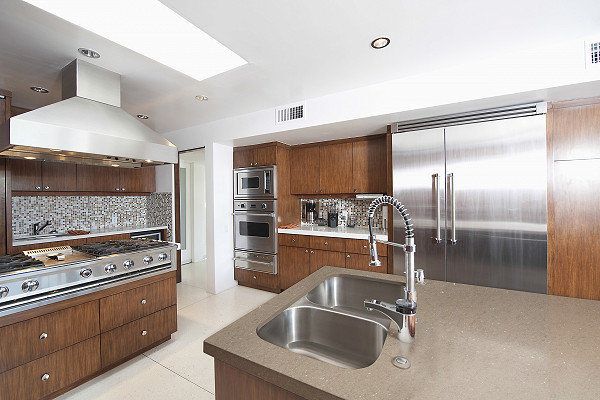
[[[101,54],[91,62],[121,74],[123,108],[149,115],[145,123],[167,133],[600,35],[597,0],[162,2],[248,64],[198,82],[20,0],[3,0],[0,88],[12,91],[13,104],[20,107],[56,102],[61,68],[79,56],[77,48],[89,47]],[[372,49],[370,42],[378,36],[390,37],[390,46]],[[34,85],[51,92],[34,93],[29,90]],[[209,101],[199,102],[195,95]]]

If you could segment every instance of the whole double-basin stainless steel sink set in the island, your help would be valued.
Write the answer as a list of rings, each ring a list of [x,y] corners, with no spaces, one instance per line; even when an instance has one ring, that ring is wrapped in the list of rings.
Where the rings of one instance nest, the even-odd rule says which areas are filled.
[[[400,282],[339,275],[326,279],[260,327],[258,336],[298,354],[344,368],[373,364],[387,338],[390,319],[367,311],[364,300],[394,303]]]

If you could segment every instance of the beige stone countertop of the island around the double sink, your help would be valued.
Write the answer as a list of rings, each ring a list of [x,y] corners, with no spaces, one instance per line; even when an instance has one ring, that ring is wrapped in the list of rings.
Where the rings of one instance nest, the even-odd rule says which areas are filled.
[[[600,398],[599,301],[426,279],[415,342],[390,329],[377,361],[354,370],[258,337],[257,328],[339,274],[403,279],[324,267],[207,338],[204,352],[310,400]],[[411,367],[394,367],[397,355]]]

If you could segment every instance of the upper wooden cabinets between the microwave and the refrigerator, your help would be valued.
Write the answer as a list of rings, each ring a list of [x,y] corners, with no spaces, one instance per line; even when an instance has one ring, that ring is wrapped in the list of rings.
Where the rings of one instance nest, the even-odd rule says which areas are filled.
[[[293,194],[386,193],[385,137],[292,148]]]

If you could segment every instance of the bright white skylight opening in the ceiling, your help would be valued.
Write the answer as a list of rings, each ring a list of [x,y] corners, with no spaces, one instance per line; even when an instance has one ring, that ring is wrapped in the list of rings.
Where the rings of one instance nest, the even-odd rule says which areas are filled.
[[[25,0],[199,81],[246,64],[157,0]]]

